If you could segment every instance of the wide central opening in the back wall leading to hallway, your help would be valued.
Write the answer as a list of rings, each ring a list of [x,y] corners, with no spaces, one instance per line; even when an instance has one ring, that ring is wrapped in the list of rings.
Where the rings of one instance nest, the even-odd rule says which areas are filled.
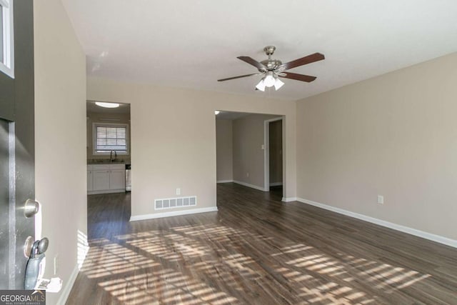
[[[231,182],[260,191],[272,191],[277,193],[278,200],[281,200],[282,151],[285,145],[282,136],[283,116],[233,111],[216,113],[216,182]],[[265,136],[266,121],[273,124],[271,141],[269,136]],[[280,127],[276,128],[277,125]],[[268,125],[268,132],[269,130]],[[278,144],[277,140],[281,143]],[[271,154],[274,162],[270,161],[268,152],[270,142],[275,149]],[[276,159],[281,161],[278,162]],[[270,164],[273,166],[272,169],[269,167]],[[273,176],[270,176],[270,173]],[[273,189],[270,188],[270,181]]]

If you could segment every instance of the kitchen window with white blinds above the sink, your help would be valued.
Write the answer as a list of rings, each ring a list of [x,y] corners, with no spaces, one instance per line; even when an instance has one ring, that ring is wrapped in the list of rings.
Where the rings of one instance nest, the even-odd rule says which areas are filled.
[[[94,123],[94,154],[129,154],[129,125]]]

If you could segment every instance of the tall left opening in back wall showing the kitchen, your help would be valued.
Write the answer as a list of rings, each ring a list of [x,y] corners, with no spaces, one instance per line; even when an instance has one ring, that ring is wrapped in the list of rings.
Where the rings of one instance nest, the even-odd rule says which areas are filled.
[[[96,224],[116,223],[131,216],[130,118],[130,104],[86,103],[89,239],[106,237],[93,235],[97,231],[103,235],[100,230],[94,230]],[[109,219],[104,219],[109,213]]]

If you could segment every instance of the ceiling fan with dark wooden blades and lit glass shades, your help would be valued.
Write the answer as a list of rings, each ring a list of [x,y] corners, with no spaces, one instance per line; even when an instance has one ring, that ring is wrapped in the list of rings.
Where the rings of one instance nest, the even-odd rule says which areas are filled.
[[[258,69],[259,73],[233,76],[227,79],[218,79],[218,81],[229,81],[231,79],[241,79],[242,77],[247,76],[264,75],[261,81],[259,81],[256,85],[256,90],[265,91],[266,87],[272,86],[274,86],[274,89],[278,90],[284,84],[279,79],[279,77],[283,77],[285,79],[295,79],[296,81],[306,81],[308,83],[316,79],[316,76],[285,72],[286,70],[296,68],[297,66],[303,66],[305,64],[311,64],[315,61],[321,61],[322,59],[325,59],[323,54],[314,53],[308,56],[304,56],[301,59],[296,59],[294,61],[289,61],[286,64],[283,64],[280,60],[271,58],[275,50],[276,46],[266,46],[265,48],[263,48],[265,54],[268,55],[268,59],[265,59],[260,62],[256,61],[255,59],[252,59],[249,56],[237,57],[238,59],[241,59],[242,61],[245,61],[246,63],[255,66]]]

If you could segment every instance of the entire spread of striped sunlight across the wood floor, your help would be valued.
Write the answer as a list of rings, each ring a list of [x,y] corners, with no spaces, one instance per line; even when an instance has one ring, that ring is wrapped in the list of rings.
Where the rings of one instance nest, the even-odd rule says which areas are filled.
[[[252,242],[263,243],[263,254],[273,259],[273,270],[242,252]],[[224,247],[214,247],[216,243]],[[231,304],[238,299],[217,289],[218,281],[243,295],[251,293],[251,285],[266,292],[274,289],[271,276],[285,279],[289,289],[297,292],[291,297],[301,304],[371,304],[378,302],[378,296],[354,289],[352,282],[363,281],[385,294],[429,276],[341,253],[329,256],[306,244],[284,245],[217,224],[93,240],[81,271],[89,279],[99,279],[99,286],[126,304],[154,304],[158,299],[171,304]]]

